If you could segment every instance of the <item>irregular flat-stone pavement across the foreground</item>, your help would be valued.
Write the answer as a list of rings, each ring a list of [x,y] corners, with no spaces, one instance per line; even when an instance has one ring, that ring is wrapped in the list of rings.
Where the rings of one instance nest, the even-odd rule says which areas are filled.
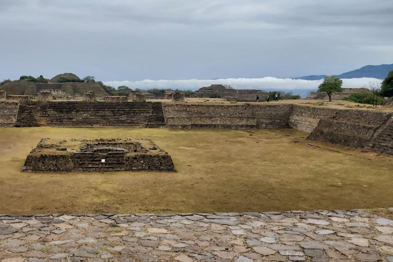
[[[393,262],[393,221],[364,210],[1,214],[0,260]]]

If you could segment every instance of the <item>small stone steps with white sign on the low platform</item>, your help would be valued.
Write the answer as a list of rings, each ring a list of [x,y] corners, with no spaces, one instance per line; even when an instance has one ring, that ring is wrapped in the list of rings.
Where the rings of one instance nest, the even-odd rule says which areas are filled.
[[[105,159],[105,162],[101,162]],[[122,171],[125,170],[124,152],[106,154],[96,152],[74,153],[75,171]]]

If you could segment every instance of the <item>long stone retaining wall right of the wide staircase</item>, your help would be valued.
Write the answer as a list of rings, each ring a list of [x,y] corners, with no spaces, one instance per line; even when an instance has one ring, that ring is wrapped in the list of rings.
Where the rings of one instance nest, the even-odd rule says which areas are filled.
[[[182,105],[164,104],[172,128],[282,128],[288,127],[291,105]]]

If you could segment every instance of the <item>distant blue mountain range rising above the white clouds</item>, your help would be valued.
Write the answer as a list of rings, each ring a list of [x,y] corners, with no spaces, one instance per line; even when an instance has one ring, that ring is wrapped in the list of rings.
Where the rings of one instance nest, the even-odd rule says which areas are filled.
[[[385,79],[389,71],[393,70],[392,64],[380,64],[380,65],[366,65],[365,67],[356,69],[354,71],[346,72],[341,75],[336,75],[339,78],[362,78],[371,77],[377,79]],[[319,76],[302,76],[295,77],[293,79],[303,79],[303,80],[320,80],[325,78],[326,75]]]

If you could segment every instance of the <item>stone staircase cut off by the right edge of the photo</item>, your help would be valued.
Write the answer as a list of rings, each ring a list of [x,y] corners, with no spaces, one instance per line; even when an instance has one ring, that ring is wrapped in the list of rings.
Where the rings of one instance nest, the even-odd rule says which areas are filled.
[[[393,117],[379,128],[366,150],[393,156]]]

